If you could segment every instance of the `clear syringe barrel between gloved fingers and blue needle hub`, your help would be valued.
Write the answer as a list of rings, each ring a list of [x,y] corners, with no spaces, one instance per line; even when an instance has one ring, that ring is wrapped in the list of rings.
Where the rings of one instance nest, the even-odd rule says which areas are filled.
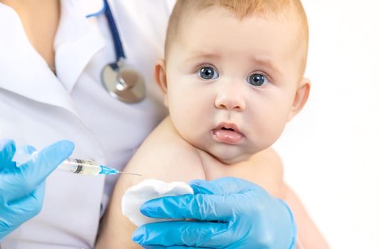
[[[97,176],[100,166],[95,161],[82,159],[66,159],[57,168],[58,171],[65,171],[86,176]]]

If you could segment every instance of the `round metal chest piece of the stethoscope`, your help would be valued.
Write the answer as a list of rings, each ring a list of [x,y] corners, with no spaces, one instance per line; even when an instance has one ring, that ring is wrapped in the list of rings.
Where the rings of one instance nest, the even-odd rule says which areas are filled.
[[[139,102],[146,95],[142,75],[122,61],[105,65],[102,83],[110,95],[125,103]]]

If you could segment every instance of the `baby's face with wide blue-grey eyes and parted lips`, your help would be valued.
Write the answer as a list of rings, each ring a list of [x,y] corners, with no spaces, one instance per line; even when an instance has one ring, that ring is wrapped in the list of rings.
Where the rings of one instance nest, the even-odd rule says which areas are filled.
[[[266,149],[292,117],[301,80],[296,23],[215,8],[185,22],[166,63],[174,126],[226,164]]]

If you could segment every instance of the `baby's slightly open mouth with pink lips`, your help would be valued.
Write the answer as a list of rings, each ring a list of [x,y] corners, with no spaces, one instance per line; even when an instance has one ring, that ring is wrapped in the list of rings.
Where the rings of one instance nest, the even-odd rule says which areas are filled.
[[[212,137],[225,144],[237,144],[245,137],[239,130],[237,125],[222,122],[211,131]]]

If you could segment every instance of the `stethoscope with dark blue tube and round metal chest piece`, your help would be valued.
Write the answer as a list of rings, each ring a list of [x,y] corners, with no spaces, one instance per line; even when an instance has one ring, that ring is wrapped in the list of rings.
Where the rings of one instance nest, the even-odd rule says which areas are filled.
[[[114,21],[110,5],[104,0],[105,16],[112,33],[116,61],[105,65],[102,69],[102,83],[117,100],[126,103],[135,103],[146,96],[144,78],[137,70],[132,69],[126,63],[126,55],[122,48],[119,32]]]

